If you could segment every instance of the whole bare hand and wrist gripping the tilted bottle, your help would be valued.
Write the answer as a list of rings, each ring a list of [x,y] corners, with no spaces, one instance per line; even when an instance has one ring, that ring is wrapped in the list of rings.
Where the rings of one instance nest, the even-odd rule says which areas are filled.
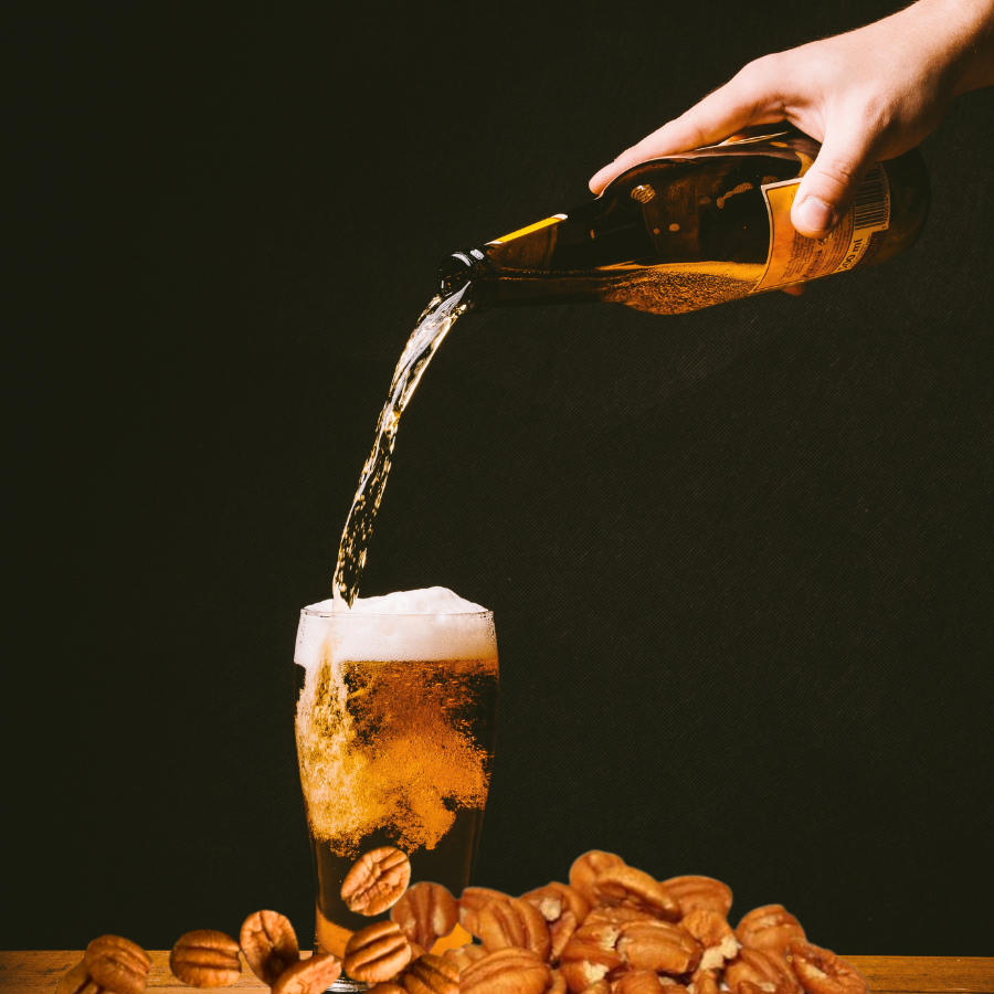
[[[822,239],[845,215],[874,162],[913,148],[954,96],[991,83],[994,0],[919,0],[848,34],[749,63],[622,152],[591,179],[590,189],[600,193],[646,159],[786,120],[822,142],[791,212],[801,234]]]

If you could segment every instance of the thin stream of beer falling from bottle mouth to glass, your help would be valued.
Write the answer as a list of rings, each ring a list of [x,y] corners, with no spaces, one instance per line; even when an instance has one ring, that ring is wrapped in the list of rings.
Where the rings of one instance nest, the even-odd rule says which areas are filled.
[[[359,581],[366,567],[369,537],[372,533],[377,509],[383,499],[383,488],[390,473],[390,457],[396,444],[396,432],[401,414],[417,387],[432,356],[448,334],[456,318],[467,307],[462,304],[469,284],[448,297],[436,296],[417,319],[414,331],[408,339],[404,351],[393,373],[387,403],[377,423],[377,438],[372,452],[362,467],[359,487],[352,498],[352,507],[341,533],[338,547],[338,564],[335,568],[332,596],[343,600],[349,607],[359,593]]]

